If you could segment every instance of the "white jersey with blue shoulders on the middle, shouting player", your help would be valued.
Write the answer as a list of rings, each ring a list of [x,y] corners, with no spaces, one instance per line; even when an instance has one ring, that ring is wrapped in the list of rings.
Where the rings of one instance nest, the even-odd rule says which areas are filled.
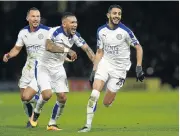
[[[57,46],[60,46],[60,44],[64,44],[68,48],[71,48],[74,43],[78,47],[86,44],[85,40],[80,36],[79,33],[76,32],[76,34],[73,36],[67,36],[63,30],[63,27],[61,26],[51,28],[49,30],[47,39],[51,39],[54,43],[56,43]],[[45,51],[41,59],[41,63],[50,67],[61,66],[64,63],[66,56],[67,53],[52,53],[49,51]]]

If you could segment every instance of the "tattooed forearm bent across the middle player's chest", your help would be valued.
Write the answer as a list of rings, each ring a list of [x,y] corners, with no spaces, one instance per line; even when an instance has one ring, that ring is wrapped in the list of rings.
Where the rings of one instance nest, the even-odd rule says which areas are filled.
[[[46,50],[53,52],[53,53],[63,53],[64,52],[64,45],[63,46],[57,46],[52,40],[47,39]]]

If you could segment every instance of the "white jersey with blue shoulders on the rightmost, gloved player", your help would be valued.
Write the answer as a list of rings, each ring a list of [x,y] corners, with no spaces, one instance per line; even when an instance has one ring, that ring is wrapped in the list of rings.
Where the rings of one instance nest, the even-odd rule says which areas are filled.
[[[137,44],[139,41],[133,32],[122,23],[114,30],[107,24],[98,28],[97,47],[103,49],[103,58],[113,65],[130,63],[130,46]]]

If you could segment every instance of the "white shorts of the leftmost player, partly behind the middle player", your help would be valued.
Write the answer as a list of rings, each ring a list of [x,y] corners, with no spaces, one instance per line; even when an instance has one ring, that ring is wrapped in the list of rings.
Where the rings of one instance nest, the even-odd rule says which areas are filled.
[[[19,79],[19,88],[27,88],[29,86],[38,92],[37,80],[35,78],[35,67],[36,62],[34,64],[26,62],[22,70],[21,78]]]

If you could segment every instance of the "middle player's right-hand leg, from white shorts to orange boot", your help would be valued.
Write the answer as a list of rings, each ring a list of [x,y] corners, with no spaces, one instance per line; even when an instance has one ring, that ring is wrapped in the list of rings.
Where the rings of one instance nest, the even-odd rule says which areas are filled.
[[[47,126],[47,130],[62,130],[57,126],[56,122],[63,113],[67,100],[66,93],[69,92],[68,82],[64,67],[60,67],[52,78],[54,79],[52,83],[52,87],[53,87],[53,91],[56,93],[57,100],[52,110],[52,114]]]

